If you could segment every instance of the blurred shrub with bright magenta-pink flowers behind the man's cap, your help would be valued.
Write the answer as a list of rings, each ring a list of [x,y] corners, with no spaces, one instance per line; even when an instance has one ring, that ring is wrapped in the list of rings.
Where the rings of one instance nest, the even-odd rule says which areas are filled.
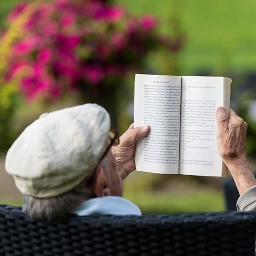
[[[92,90],[141,68],[152,49],[177,51],[182,43],[181,36],[170,40],[157,35],[153,16],[131,15],[109,1],[22,3],[9,15],[9,23],[27,8],[32,11],[9,47],[3,72],[4,82],[18,81],[27,100],[55,100],[66,92]]]

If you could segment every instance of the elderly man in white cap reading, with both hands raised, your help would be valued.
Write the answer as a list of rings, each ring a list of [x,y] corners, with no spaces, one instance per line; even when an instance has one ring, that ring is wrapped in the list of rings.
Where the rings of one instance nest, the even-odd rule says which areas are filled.
[[[246,123],[217,110],[218,149],[242,196],[238,210],[252,209],[256,180],[245,156]],[[64,221],[72,214],[141,214],[123,199],[122,181],[135,170],[134,148],[150,126],[131,125],[118,141],[109,114],[85,104],[43,114],[28,126],[6,156],[6,170],[23,193],[33,220]]]

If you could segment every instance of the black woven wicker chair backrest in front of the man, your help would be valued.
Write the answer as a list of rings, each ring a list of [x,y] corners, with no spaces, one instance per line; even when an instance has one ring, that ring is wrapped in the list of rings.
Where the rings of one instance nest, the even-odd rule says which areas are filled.
[[[0,205],[0,255],[255,255],[248,213],[74,217],[31,221]]]

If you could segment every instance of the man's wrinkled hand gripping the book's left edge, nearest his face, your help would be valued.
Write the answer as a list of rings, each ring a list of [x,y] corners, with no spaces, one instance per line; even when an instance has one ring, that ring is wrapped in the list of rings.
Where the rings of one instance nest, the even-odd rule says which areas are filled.
[[[134,149],[138,138],[145,137],[150,131],[150,126],[134,128],[133,123],[129,129],[119,138],[120,143],[112,147],[112,152],[117,160],[119,174],[124,180],[131,172],[135,170]]]

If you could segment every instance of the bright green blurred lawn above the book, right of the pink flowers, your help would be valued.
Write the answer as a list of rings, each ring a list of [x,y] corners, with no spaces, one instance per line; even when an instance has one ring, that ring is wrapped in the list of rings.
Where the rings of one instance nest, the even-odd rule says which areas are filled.
[[[253,0],[118,0],[134,13],[159,17],[160,31],[171,34],[171,17],[180,21],[187,44],[180,56],[181,75],[256,68],[256,2]],[[170,73],[172,73],[170,71]]]

